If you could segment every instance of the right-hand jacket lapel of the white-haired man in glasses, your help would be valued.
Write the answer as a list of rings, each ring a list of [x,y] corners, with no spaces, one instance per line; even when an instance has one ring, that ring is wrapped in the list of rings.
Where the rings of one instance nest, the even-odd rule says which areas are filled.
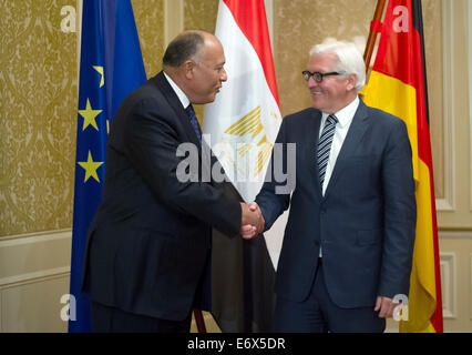
[[[346,160],[356,151],[356,148],[359,145],[359,142],[366,133],[369,123],[368,119],[368,109],[361,100],[356,114],[352,118],[345,142],[342,143],[341,151],[336,160],[335,169],[332,170],[331,178],[329,179],[329,183],[325,192],[325,199],[329,195],[329,192],[336,185],[336,181],[341,175],[341,172],[346,166]]]

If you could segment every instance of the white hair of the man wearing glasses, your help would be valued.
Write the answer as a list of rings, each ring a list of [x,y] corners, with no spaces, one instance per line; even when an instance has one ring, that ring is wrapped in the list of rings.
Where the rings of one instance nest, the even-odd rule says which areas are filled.
[[[336,54],[339,61],[335,70],[342,71],[346,74],[356,74],[356,90],[358,92],[362,90],[366,83],[366,64],[355,43],[327,39],[321,44],[314,45],[310,50],[310,55],[321,53]]]

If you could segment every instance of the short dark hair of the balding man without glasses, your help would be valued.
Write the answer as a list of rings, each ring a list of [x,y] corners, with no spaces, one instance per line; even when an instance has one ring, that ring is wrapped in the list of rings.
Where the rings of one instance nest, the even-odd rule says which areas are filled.
[[[186,60],[196,60],[195,54],[204,45],[203,37],[197,32],[185,32],[177,36],[165,50],[163,67],[181,67]]]

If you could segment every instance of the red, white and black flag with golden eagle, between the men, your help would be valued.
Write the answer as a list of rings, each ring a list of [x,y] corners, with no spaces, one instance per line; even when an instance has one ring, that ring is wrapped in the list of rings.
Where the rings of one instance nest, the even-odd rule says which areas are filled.
[[[264,0],[220,0],[216,37],[228,75],[203,133],[245,202],[255,200],[281,118]],[[212,314],[223,332],[269,332],[281,233],[250,241],[214,231]]]

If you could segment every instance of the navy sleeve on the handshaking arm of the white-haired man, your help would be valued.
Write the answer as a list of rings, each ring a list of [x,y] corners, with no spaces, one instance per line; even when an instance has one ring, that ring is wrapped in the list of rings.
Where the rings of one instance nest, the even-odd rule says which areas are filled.
[[[278,179],[281,175],[278,170],[279,166],[281,166],[284,172],[287,172],[286,122],[287,119],[281,122],[270,156],[269,168],[267,169],[266,182],[255,200],[265,220],[265,231],[269,230],[280,214],[288,209],[290,194],[287,190],[294,187],[289,185],[291,179],[281,181]]]

